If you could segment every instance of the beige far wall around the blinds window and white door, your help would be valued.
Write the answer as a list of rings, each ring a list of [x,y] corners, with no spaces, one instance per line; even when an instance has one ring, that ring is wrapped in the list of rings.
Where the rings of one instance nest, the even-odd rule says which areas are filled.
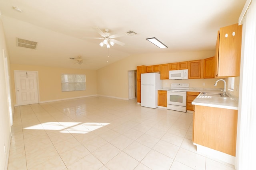
[[[11,64],[11,77],[14,84],[14,70],[38,71],[39,102],[48,102],[83,96],[97,95],[97,73],[96,70],[82,70],[71,68],[56,68],[46,66],[31,66]],[[86,90],[75,92],[61,92],[60,74],[85,74]],[[15,99],[15,87],[12,87]],[[16,101],[15,101],[16,103]]]

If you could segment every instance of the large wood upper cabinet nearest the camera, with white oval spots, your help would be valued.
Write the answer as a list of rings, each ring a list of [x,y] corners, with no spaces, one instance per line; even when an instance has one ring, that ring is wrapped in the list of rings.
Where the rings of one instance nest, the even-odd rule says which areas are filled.
[[[241,46],[242,25],[236,23],[220,28],[216,43],[216,77],[240,76]]]

